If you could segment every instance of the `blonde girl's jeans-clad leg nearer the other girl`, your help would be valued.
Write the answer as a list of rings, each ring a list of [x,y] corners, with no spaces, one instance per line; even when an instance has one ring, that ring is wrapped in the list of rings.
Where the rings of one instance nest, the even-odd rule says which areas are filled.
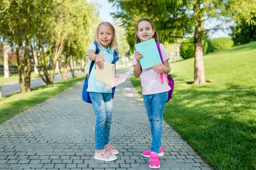
[[[105,101],[105,112],[106,112],[106,126],[105,126],[105,145],[109,144],[110,142],[110,128],[111,128],[111,121],[112,121],[112,110],[113,110],[113,100],[112,94],[105,94],[104,95]]]

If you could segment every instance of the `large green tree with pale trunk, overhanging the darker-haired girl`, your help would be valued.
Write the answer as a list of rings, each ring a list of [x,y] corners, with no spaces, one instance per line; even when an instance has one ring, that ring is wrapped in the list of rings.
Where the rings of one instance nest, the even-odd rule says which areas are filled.
[[[131,50],[134,49],[132,37],[136,30],[135,24],[139,18],[149,18],[155,23],[157,32],[159,33],[161,42],[174,42],[178,38],[191,37],[194,38],[195,63],[194,63],[194,84],[205,84],[204,64],[203,64],[203,47],[202,38],[209,30],[217,30],[221,25],[205,29],[203,23],[210,18],[217,18],[228,22],[231,18],[246,18],[247,23],[255,16],[253,4],[250,0],[226,0],[226,1],[206,1],[206,0],[138,0],[138,1],[122,1],[109,0],[114,5],[122,9],[117,13],[112,13],[115,18],[121,18],[123,25],[127,28],[129,36],[129,45]],[[239,6],[249,10],[240,11]],[[250,16],[248,18],[248,16]],[[132,27],[132,28],[131,28]]]

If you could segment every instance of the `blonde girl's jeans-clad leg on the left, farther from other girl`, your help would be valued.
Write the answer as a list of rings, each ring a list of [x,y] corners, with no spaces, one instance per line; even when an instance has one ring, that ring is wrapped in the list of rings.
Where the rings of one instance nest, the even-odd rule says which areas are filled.
[[[105,103],[102,93],[89,92],[93,110],[96,115],[95,124],[95,148],[96,150],[105,148],[105,127],[106,113]]]

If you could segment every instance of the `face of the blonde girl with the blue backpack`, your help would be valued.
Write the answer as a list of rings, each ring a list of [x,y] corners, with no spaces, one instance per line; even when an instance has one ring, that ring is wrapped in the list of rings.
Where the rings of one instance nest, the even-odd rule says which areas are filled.
[[[112,30],[110,27],[101,25],[99,27],[99,33],[97,35],[98,40],[100,41],[100,44],[107,48],[112,42]]]

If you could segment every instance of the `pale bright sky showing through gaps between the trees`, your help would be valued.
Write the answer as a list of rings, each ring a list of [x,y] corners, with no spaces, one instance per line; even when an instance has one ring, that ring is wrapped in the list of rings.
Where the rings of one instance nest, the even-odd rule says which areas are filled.
[[[88,1],[89,2],[97,2],[97,4],[100,4],[98,11],[100,14],[100,19],[102,21],[109,21],[109,22],[114,21],[112,16],[110,16],[110,13],[117,11],[117,9],[115,7],[112,7],[113,3],[108,2],[108,0],[88,0]],[[210,26],[210,24],[213,24],[213,23],[215,23],[215,21],[212,23],[209,23],[209,26]],[[226,26],[226,27],[228,27],[228,26]],[[228,31],[218,30],[215,33],[210,33],[209,37],[210,38],[229,37],[228,33],[229,33]]]

